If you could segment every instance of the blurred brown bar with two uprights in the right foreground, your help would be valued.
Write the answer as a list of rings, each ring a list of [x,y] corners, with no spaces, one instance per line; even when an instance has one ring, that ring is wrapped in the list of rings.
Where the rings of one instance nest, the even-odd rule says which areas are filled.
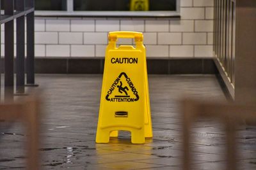
[[[221,101],[204,101],[195,99],[183,99],[181,101],[183,114],[183,147],[184,162],[183,169],[191,169],[191,149],[189,143],[193,141],[189,129],[198,118],[214,118],[225,127],[227,170],[236,170],[237,146],[236,130],[243,122],[250,120],[256,124],[256,106],[228,103]]]

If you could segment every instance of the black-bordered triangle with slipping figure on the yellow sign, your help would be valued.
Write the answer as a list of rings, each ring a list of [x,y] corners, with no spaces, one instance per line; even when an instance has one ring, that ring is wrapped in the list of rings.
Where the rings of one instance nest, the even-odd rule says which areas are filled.
[[[111,97],[111,94],[113,97]],[[109,88],[106,96],[106,100],[110,102],[134,102],[139,99],[138,91],[134,87],[131,78],[129,78],[124,72],[119,74]]]

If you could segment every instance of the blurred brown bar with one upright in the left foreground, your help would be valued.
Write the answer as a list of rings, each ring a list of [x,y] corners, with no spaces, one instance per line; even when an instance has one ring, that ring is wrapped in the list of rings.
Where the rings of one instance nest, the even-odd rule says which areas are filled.
[[[22,122],[26,127],[27,169],[39,168],[39,127],[40,97],[33,94],[17,101],[0,104],[0,120],[4,122]]]

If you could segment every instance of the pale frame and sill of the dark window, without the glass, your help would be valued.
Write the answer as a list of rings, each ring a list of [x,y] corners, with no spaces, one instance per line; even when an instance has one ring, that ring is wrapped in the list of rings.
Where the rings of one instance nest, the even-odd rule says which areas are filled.
[[[74,11],[74,0],[67,0],[67,11],[35,11],[37,17],[180,17],[180,0],[176,11]]]

